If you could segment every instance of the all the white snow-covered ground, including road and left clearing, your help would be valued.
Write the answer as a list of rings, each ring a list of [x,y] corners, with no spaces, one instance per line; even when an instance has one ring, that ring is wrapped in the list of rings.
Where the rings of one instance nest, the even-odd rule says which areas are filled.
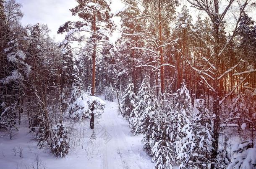
[[[154,163],[143,151],[142,136],[131,134],[128,122],[118,114],[117,103],[105,102],[93,143],[88,120],[69,121],[71,150],[65,158],[54,157],[47,148],[37,149],[27,124],[19,126],[13,140],[1,132],[0,169],[33,169],[37,165],[41,169],[152,169]]]

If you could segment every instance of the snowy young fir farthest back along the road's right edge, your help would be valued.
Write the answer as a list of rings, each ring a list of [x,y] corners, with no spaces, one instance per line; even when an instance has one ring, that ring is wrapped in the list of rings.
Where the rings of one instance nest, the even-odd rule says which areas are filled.
[[[133,83],[129,83],[125,89],[125,93],[122,98],[121,108],[123,110],[123,117],[129,118],[131,112],[136,107],[136,103],[138,102],[138,98],[134,93]]]

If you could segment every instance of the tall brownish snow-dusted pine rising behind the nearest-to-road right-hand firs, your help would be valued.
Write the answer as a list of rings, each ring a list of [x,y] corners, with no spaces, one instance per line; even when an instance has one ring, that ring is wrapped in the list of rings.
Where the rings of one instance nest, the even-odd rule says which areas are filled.
[[[140,73],[138,71],[139,68],[136,66],[143,61],[143,52],[132,48],[143,46],[143,42],[139,41],[138,34],[142,32],[144,22],[140,18],[140,10],[136,8],[136,1],[123,0],[123,2],[125,3],[125,8],[117,13],[117,16],[121,18],[122,36],[115,43],[118,50],[116,58],[121,61],[118,62],[118,78],[125,81],[127,77],[131,77],[135,92],[137,91],[138,73]]]

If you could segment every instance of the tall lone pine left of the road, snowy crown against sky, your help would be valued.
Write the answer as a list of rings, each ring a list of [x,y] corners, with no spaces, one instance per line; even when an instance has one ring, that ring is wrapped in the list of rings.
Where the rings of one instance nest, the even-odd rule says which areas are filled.
[[[78,5],[71,9],[72,15],[78,15],[82,21],[66,22],[58,33],[68,31],[65,39],[86,44],[84,51],[92,59],[91,94],[95,93],[96,57],[109,53],[112,45],[109,43],[110,33],[114,29],[110,4],[106,0],[76,0]],[[77,33],[81,33],[77,37]],[[85,34],[89,34],[86,36]],[[94,114],[91,114],[91,129],[94,127]]]

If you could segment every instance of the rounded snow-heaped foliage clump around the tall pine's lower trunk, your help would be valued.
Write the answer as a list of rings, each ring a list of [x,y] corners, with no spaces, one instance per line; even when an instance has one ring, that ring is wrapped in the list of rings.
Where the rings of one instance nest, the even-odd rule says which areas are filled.
[[[93,105],[94,110],[91,112]],[[104,108],[104,101],[88,93],[82,93],[69,107],[72,110],[71,117],[78,120],[91,116],[91,113],[99,117],[103,113]]]

